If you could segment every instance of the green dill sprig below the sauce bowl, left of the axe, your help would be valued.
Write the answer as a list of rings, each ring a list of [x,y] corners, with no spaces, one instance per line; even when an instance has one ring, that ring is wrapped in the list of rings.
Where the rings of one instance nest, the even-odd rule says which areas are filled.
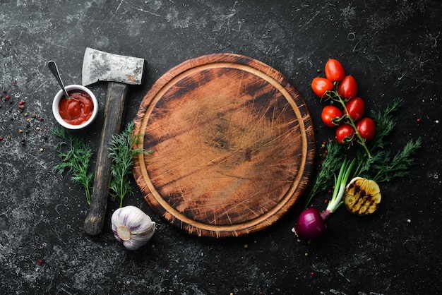
[[[63,174],[66,170],[71,172],[72,181],[85,189],[86,200],[90,206],[90,183],[92,183],[93,174],[88,173],[88,168],[92,157],[92,148],[80,138],[60,127],[54,128],[52,135],[61,138],[61,141],[55,146],[61,163],[54,166],[54,171],[59,174]]]

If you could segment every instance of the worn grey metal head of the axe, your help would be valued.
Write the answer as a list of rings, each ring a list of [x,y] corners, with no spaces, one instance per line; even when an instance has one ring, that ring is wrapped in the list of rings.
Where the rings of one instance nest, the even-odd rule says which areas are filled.
[[[143,80],[144,59],[101,52],[87,47],[83,59],[83,86],[98,81],[139,85]]]

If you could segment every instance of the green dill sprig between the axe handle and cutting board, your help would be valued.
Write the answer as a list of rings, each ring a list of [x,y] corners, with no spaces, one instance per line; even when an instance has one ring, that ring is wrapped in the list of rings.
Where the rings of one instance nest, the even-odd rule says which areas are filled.
[[[133,135],[133,121],[126,125],[124,131],[114,134],[109,143],[109,157],[112,159],[112,180],[109,187],[109,195],[112,200],[119,198],[119,207],[123,207],[125,195],[133,195],[135,192],[131,186],[129,175],[132,173],[133,156],[143,153],[148,155],[152,150],[143,148],[134,149],[133,146],[140,143],[141,135]]]

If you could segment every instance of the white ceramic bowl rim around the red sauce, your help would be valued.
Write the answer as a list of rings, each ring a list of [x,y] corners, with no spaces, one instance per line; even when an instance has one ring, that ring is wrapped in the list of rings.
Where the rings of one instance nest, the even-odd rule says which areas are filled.
[[[73,125],[73,124],[69,124],[68,122],[64,121],[63,118],[61,118],[60,113],[59,113],[59,103],[62,97],[64,97],[63,94],[63,90],[60,90],[59,92],[56,93],[55,97],[54,97],[54,101],[52,102],[52,114],[54,114],[54,117],[56,119],[57,122],[59,122],[59,124],[61,126],[63,126],[64,128],[68,128],[68,129],[81,129],[81,128],[85,128],[86,126],[89,126],[97,117],[98,114],[98,101],[97,101],[97,97],[95,97],[95,95],[92,93],[92,91],[90,91],[88,88],[85,88],[83,85],[68,85],[65,87],[66,91],[72,91],[72,90],[81,90],[83,92],[86,92],[90,98],[92,98],[92,103],[94,105],[94,109],[92,111],[92,116],[90,116],[88,121],[85,121],[83,124],[79,124],[79,125]]]

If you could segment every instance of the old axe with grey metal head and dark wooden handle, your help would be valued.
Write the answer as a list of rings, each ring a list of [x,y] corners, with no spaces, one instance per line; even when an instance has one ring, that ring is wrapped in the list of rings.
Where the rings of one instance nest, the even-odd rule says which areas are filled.
[[[90,235],[102,232],[111,182],[109,141],[112,135],[120,132],[127,90],[129,85],[142,83],[143,68],[144,59],[110,54],[92,48],[85,50],[81,81],[83,86],[98,81],[109,82],[90,210],[84,224],[85,232]]]

